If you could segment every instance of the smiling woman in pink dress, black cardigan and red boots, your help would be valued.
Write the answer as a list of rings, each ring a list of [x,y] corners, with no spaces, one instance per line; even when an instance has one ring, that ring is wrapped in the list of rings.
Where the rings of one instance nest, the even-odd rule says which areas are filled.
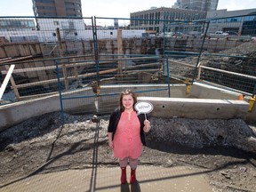
[[[119,108],[109,118],[108,146],[113,148],[114,156],[119,159],[121,167],[121,183],[126,183],[126,166],[131,167],[130,183],[136,180],[138,158],[142,152],[142,145],[146,145],[144,132],[150,130],[150,122],[144,114],[137,116],[134,105],[136,95],[126,90],[121,92]]]

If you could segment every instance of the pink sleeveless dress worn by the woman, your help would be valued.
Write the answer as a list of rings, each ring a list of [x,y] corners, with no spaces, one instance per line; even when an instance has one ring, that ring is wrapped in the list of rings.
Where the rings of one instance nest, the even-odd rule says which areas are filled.
[[[142,142],[140,140],[140,120],[135,111],[121,114],[119,123],[117,124],[114,144],[114,156],[119,159],[131,157],[138,158],[142,152]]]

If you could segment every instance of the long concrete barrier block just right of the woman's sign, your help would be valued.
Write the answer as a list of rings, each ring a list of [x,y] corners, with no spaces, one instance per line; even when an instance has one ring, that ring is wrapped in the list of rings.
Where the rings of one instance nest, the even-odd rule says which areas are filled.
[[[152,116],[162,118],[185,117],[194,119],[245,119],[249,104],[244,100],[205,100],[183,98],[150,98]]]

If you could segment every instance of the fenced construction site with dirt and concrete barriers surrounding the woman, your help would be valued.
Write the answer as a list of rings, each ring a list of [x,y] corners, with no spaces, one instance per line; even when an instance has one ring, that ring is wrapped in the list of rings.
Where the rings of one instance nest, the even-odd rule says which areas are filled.
[[[256,191],[255,25],[211,36],[220,19],[176,21],[188,33],[145,36],[97,27],[108,18],[37,20],[0,32],[1,192]],[[108,119],[125,89],[154,109],[137,182],[121,185]]]

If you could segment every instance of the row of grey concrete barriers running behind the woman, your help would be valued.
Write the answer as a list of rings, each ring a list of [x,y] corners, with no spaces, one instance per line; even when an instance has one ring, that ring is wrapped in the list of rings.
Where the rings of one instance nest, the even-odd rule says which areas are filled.
[[[168,98],[168,86],[156,85],[102,85],[98,97],[91,87],[62,94],[62,97],[91,96],[70,102],[63,100],[63,108],[68,113],[108,113],[118,106],[119,92],[125,89],[138,92],[139,100],[148,100],[154,105],[151,116],[172,118],[173,116],[196,119],[230,119],[242,118],[256,121],[256,108],[248,113],[248,99],[238,100],[239,92],[231,92],[204,84],[193,84],[186,94],[186,85],[172,85],[171,98]],[[158,90],[156,92],[156,90]],[[150,96],[150,97],[148,97]],[[96,105],[97,102],[97,105]],[[91,108],[92,111],[86,111]],[[26,100],[0,107],[0,131],[14,124],[46,113],[60,111],[60,95]]]

